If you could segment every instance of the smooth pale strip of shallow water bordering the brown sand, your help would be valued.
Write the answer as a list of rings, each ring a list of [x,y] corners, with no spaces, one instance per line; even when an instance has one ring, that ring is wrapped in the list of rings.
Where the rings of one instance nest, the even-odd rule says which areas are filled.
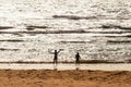
[[[92,70],[92,71],[131,71],[131,64],[0,64],[0,70]]]

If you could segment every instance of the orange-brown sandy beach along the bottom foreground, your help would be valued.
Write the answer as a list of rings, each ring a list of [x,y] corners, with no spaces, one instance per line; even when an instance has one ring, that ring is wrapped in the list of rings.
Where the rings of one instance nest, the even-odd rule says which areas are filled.
[[[0,87],[131,87],[131,72],[0,70]]]

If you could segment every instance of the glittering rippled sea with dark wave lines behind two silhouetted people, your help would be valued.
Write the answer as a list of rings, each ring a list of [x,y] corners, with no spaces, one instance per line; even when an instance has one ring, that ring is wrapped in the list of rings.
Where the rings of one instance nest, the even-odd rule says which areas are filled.
[[[0,0],[0,61],[127,61],[130,0]]]

